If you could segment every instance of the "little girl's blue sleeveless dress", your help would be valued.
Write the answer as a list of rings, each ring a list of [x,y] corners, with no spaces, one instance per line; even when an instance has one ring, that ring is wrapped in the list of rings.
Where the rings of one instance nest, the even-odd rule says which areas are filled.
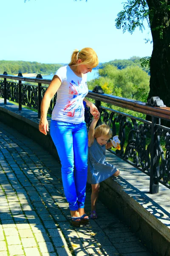
[[[96,139],[94,139],[93,145],[88,147],[88,183],[99,183],[117,171],[115,166],[105,162],[105,153],[105,145],[99,145]]]

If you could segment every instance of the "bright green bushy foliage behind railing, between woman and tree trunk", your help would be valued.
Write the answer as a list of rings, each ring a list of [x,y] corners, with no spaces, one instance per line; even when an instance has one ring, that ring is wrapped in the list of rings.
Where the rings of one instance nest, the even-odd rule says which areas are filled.
[[[137,65],[119,70],[109,63],[99,69],[99,78],[88,81],[89,89],[99,85],[105,94],[147,102],[150,76]]]

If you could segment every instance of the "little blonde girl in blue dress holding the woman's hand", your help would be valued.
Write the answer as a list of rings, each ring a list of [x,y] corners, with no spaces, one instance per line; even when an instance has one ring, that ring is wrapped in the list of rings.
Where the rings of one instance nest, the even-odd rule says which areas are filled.
[[[120,140],[116,136],[117,142],[108,140],[112,137],[111,128],[102,124],[96,127],[96,123],[99,117],[93,119],[91,122],[89,132],[88,132],[88,179],[87,182],[91,183],[92,193],[91,193],[91,218],[97,218],[96,214],[96,203],[99,195],[99,182],[107,179],[108,177],[114,175],[118,176],[120,174],[119,169],[105,162],[105,151],[111,148],[112,145],[115,148],[120,148]],[[96,127],[96,129],[95,129]]]

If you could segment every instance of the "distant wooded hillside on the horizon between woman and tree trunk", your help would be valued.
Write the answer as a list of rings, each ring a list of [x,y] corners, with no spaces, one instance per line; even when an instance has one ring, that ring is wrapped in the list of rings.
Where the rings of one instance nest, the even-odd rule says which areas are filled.
[[[140,62],[140,57],[136,57],[136,56],[133,56],[132,58],[130,59],[124,59],[124,60],[118,60],[118,59],[115,59],[113,61],[109,61],[109,62],[105,62],[105,63],[100,63],[99,64],[99,68],[104,68],[106,65],[110,64],[112,66],[115,66],[117,67],[119,70],[122,70],[126,67],[129,67],[129,66],[138,66],[140,68],[141,67],[141,62]],[[148,75],[150,75],[150,69],[148,67],[143,67],[142,70],[144,70],[145,72],[148,73]]]

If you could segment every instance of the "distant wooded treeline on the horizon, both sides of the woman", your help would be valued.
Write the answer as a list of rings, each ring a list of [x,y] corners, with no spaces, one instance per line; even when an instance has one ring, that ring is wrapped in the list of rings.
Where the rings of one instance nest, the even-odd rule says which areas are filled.
[[[141,67],[140,57],[132,57],[130,59],[123,60],[113,60],[105,63],[99,63],[96,69],[103,69],[106,65],[112,65],[117,67],[119,70],[125,69],[126,67]],[[51,74],[55,73],[59,67],[62,67],[65,64],[44,64],[39,62],[30,62],[30,61],[0,61],[0,74],[3,74],[4,71],[8,75],[14,75],[18,73],[41,73],[41,74]],[[143,67],[142,70],[147,72],[150,75],[150,70],[148,67]]]

